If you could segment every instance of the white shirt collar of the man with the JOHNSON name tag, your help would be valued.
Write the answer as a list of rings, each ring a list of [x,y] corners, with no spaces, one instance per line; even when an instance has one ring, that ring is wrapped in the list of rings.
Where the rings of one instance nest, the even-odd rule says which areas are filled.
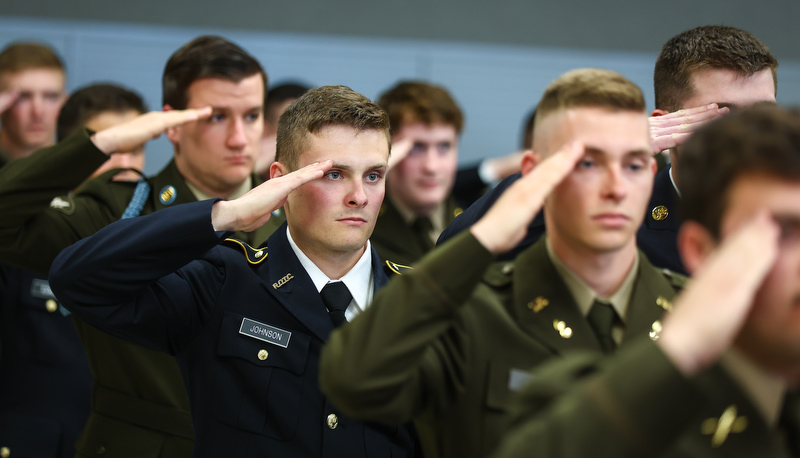
[[[306,270],[308,276],[311,277],[311,281],[314,283],[317,292],[322,291],[322,288],[328,283],[337,281],[328,278],[328,276],[303,253],[303,250],[297,246],[292,238],[288,226],[286,227],[286,238],[289,239],[289,245],[292,247],[292,251],[294,251],[300,264]],[[347,311],[345,311],[345,317],[348,321],[351,321],[356,315],[369,306],[369,303],[372,302],[372,294],[375,289],[372,276],[372,245],[369,240],[367,240],[367,249],[364,250],[364,254],[361,255],[358,262],[356,262],[356,264],[339,280],[344,282],[347,289],[350,290],[350,294],[353,296],[353,300],[347,307]]]

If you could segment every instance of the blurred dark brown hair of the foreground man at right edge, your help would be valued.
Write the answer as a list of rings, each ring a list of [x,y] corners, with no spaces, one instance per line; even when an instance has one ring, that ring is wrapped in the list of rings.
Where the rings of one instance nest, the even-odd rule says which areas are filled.
[[[678,162],[683,216],[720,235],[731,185],[764,174],[800,183],[800,110],[760,103],[698,129]]]

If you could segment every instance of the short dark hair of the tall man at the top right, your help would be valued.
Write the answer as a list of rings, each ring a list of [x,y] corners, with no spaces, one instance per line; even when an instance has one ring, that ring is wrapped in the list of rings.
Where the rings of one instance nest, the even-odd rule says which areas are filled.
[[[741,29],[709,25],[682,32],[661,48],[653,72],[656,108],[681,109],[694,94],[692,74],[706,69],[732,70],[740,76],[770,69],[778,89],[778,61],[764,43]]]

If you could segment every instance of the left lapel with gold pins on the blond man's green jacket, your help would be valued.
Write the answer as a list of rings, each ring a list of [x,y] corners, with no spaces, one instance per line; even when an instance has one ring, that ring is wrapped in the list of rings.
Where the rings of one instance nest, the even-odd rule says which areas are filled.
[[[547,256],[544,239],[519,255],[514,268],[514,309],[532,338],[556,354],[600,350],[586,319]]]

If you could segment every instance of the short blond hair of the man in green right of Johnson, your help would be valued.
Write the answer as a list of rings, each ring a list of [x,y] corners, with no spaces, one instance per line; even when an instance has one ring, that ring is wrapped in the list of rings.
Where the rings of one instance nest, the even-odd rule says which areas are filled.
[[[639,86],[611,70],[579,68],[556,78],[536,106],[534,130],[545,117],[570,108],[645,111]]]

